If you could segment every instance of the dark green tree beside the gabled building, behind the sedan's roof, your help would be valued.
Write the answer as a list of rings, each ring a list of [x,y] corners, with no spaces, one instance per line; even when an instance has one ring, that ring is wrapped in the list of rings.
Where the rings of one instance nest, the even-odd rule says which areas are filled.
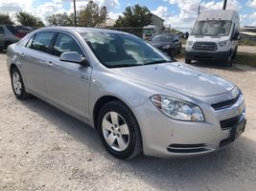
[[[116,20],[115,27],[143,27],[151,24],[151,11],[147,7],[128,6]]]

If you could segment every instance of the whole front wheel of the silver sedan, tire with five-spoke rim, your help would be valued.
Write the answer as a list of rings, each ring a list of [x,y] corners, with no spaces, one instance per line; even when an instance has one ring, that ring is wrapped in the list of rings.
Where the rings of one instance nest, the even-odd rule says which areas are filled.
[[[132,159],[142,153],[139,124],[121,101],[106,103],[99,113],[97,129],[105,149],[118,159]]]

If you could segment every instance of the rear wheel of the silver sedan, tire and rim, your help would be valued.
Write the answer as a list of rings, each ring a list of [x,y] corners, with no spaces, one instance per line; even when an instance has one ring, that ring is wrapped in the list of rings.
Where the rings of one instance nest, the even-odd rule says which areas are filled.
[[[12,68],[11,80],[12,80],[12,91],[18,99],[25,99],[29,97],[28,93],[25,90],[22,76],[16,67]]]

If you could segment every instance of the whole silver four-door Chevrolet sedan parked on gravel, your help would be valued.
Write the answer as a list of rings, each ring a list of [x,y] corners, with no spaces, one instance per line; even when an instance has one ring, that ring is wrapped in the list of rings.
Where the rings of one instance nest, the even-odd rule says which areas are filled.
[[[205,154],[244,132],[236,85],[125,32],[43,28],[7,55],[18,99],[34,95],[84,121],[119,159]]]

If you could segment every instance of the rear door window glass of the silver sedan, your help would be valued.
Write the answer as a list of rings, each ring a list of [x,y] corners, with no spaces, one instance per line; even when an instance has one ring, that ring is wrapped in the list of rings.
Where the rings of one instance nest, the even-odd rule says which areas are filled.
[[[55,32],[41,32],[35,35],[35,39],[32,43],[31,49],[40,51],[43,53],[48,52],[51,40],[54,37]]]

